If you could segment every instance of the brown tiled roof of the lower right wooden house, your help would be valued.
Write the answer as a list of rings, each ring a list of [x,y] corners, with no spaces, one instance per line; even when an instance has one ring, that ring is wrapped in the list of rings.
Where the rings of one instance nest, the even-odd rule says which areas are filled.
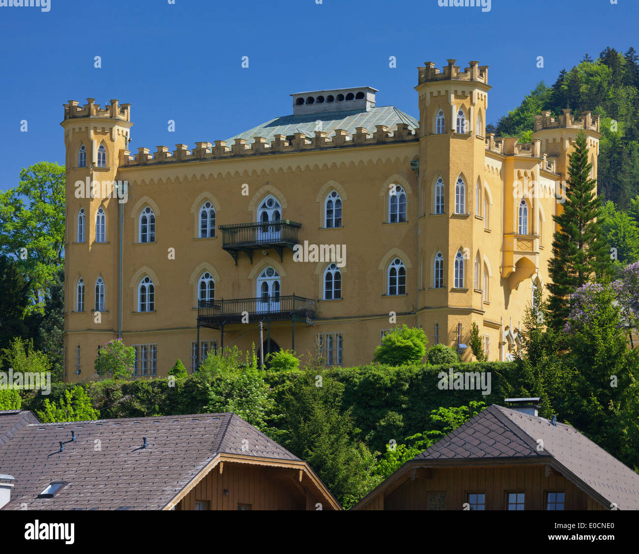
[[[537,451],[537,440],[543,450]],[[639,475],[574,427],[553,425],[495,404],[438,440],[413,460],[553,458],[567,473],[603,497],[610,507],[639,509]],[[566,475],[567,476],[567,475]],[[574,479],[572,479],[574,481]]]

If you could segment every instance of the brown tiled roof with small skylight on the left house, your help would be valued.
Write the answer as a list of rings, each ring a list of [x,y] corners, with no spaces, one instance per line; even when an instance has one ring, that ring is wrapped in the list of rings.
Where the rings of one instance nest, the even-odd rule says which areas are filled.
[[[235,414],[39,423],[0,412],[0,473],[17,479],[4,509],[161,509],[223,453],[301,461]],[[68,485],[37,498],[52,481]]]

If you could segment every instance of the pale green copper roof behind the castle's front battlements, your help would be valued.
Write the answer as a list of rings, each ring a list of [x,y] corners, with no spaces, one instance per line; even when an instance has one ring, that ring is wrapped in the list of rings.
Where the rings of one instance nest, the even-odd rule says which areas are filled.
[[[355,134],[356,127],[364,127],[369,134],[376,131],[376,125],[385,125],[389,131],[396,130],[397,123],[406,123],[410,129],[419,128],[419,122],[414,117],[405,114],[394,106],[380,106],[371,108],[369,112],[353,110],[351,112],[331,112],[327,114],[308,114],[304,116],[275,117],[257,127],[244,131],[235,137],[227,139],[231,146],[235,139],[246,139],[247,144],[252,144],[255,137],[264,137],[266,142],[271,142],[274,135],[294,135],[304,133],[307,137],[314,137],[316,121],[322,122],[322,131],[332,135],[335,129],[344,129],[347,133]]]

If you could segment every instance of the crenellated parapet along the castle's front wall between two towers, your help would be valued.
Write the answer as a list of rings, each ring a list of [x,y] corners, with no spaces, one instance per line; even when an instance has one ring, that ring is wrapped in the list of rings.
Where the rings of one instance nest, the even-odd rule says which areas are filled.
[[[134,167],[168,162],[219,160],[419,140],[417,130],[413,131],[406,123],[397,123],[396,130],[392,133],[385,125],[376,125],[374,133],[369,133],[364,127],[357,127],[355,131],[348,133],[344,129],[336,129],[330,136],[325,131],[315,131],[314,137],[307,137],[304,133],[295,133],[288,137],[275,135],[271,142],[266,142],[264,137],[254,137],[252,144],[247,144],[246,139],[235,139],[235,144],[227,144],[226,140],[215,140],[214,143],[196,142],[196,147],[192,150],[186,144],[176,144],[176,150],[172,153],[167,146],[157,146],[157,151],[153,154],[148,148],[142,147],[137,149],[135,156],[128,156],[123,165]]]

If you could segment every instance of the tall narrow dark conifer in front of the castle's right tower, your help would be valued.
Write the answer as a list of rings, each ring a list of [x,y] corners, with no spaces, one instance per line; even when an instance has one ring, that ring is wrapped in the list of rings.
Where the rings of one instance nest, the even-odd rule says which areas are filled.
[[[590,177],[592,163],[588,157],[586,135],[581,131],[570,154],[566,201],[561,213],[553,216],[559,228],[553,237],[553,258],[548,263],[552,280],[548,288],[552,325],[558,330],[566,323],[570,294],[591,278],[610,274],[612,263],[596,221],[601,198],[596,196],[597,181]]]

